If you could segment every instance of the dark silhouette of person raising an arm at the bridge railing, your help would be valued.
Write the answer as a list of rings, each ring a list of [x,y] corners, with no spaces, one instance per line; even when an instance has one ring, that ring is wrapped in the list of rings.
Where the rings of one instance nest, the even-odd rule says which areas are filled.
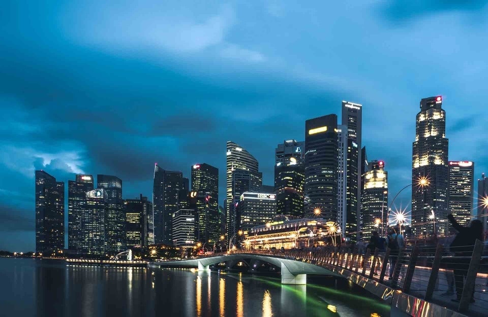
[[[469,227],[463,227],[457,223],[452,214],[449,214],[447,218],[457,231],[449,250],[454,253],[455,257],[460,257],[452,264],[456,286],[456,299],[452,301],[460,301],[463,294],[464,278],[468,273],[470,257],[474,250],[474,243],[477,239],[483,241],[483,224],[479,220],[473,220]],[[474,302],[474,290],[471,294],[471,302]]]

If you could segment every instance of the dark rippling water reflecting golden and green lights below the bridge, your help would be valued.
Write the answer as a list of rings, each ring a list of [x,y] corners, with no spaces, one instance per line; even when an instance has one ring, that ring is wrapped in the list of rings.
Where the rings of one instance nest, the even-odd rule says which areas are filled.
[[[0,316],[389,317],[389,306],[348,281],[309,281],[0,258]]]

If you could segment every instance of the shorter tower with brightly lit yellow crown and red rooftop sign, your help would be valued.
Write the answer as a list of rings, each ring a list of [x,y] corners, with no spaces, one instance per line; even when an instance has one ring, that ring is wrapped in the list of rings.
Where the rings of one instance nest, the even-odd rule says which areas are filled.
[[[388,172],[383,161],[372,161],[362,175],[364,187],[361,198],[361,239],[369,241],[373,231],[386,234],[388,210]]]

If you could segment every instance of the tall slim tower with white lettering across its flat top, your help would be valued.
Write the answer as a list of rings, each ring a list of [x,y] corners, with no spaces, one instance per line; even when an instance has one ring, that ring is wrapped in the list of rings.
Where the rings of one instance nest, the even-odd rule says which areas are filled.
[[[347,126],[346,239],[359,237],[361,201],[362,105],[342,101],[342,124]]]

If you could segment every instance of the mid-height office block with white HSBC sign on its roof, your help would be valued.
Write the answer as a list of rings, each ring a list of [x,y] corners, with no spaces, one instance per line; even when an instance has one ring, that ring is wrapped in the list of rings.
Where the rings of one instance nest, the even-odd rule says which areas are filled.
[[[242,193],[237,204],[238,229],[247,231],[266,224],[276,216],[276,195],[274,193]]]

